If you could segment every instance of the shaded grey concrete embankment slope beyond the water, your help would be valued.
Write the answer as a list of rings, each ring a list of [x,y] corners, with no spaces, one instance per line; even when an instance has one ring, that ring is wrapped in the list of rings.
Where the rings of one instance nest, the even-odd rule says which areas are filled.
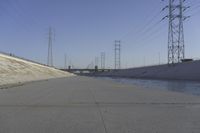
[[[124,78],[151,78],[172,80],[200,80],[200,61],[184,62],[174,65],[158,65],[123,69],[97,74],[98,76]]]

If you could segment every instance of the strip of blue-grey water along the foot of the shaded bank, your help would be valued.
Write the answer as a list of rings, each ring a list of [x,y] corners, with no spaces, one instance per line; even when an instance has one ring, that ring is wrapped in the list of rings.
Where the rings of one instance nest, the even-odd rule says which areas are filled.
[[[200,96],[200,81],[151,80],[110,77],[98,77],[98,79],[111,80],[121,84],[134,85],[145,89],[161,89]]]

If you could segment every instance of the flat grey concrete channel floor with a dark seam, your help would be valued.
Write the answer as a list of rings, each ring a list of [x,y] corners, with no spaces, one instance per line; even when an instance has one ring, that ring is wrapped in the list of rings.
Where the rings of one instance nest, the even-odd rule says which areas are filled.
[[[0,133],[200,133],[200,97],[87,77],[0,90]]]

